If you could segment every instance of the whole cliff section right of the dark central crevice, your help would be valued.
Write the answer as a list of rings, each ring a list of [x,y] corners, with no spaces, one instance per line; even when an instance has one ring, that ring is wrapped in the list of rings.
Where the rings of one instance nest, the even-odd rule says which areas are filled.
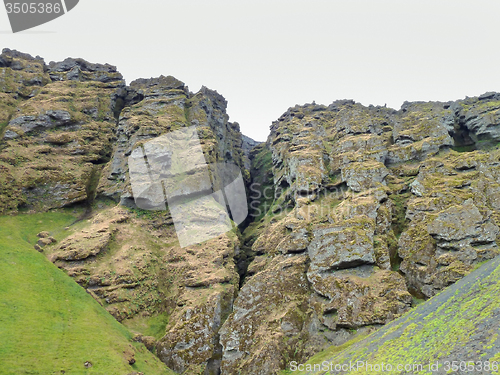
[[[274,122],[253,155],[255,260],[222,328],[222,372],[301,363],[498,255],[499,99],[337,101]]]

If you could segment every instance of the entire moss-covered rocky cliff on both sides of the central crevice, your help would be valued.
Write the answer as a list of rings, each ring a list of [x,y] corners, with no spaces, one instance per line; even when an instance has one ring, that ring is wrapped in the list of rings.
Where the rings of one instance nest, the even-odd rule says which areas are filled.
[[[210,89],[171,76],[126,85],[108,64],[5,49],[0,212],[81,209],[64,239],[37,249],[174,371],[275,374],[499,253],[499,114],[496,93],[400,110],[306,104],[259,144]],[[168,208],[137,206],[128,163],[190,126],[206,163],[242,171],[250,214],[181,247]],[[176,198],[215,190],[197,176]]]

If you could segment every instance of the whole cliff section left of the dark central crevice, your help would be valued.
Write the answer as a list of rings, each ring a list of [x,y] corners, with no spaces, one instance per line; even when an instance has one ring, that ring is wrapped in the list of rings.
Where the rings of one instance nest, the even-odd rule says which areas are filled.
[[[70,236],[38,250],[172,369],[217,373],[218,331],[238,288],[238,237],[229,232],[181,248],[168,210],[135,206],[128,157],[158,136],[195,126],[206,163],[235,164],[248,179],[252,141],[245,151],[225,99],[205,87],[193,94],[173,77],[126,86],[115,67],[82,59],[46,65],[4,50],[0,62],[0,211],[87,205]],[[201,186],[194,181],[184,191],[202,194]],[[93,204],[105,198],[130,208]],[[142,335],[148,322],[163,332]]]

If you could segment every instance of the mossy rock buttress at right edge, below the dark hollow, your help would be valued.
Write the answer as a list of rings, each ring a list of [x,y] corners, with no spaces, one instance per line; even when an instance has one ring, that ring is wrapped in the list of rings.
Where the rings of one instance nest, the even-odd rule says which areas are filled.
[[[417,294],[431,297],[500,253],[497,154],[429,159],[409,184],[409,224],[399,239],[399,255],[401,271]]]

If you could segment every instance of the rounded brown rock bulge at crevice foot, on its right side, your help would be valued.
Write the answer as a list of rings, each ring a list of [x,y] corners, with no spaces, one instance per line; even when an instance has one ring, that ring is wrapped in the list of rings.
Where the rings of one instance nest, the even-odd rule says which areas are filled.
[[[308,338],[304,255],[276,257],[240,290],[221,330],[223,374],[270,374],[284,368]],[[302,354],[302,353],[301,353]]]

